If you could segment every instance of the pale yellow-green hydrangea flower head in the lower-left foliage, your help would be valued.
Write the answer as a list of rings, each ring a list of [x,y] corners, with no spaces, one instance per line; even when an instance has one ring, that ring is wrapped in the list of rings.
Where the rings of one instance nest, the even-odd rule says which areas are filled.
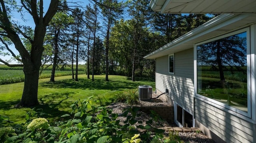
[[[47,129],[50,127],[48,124],[47,119],[45,118],[36,118],[31,121],[31,123],[28,124],[27,128],[34,131],[36,129]]]

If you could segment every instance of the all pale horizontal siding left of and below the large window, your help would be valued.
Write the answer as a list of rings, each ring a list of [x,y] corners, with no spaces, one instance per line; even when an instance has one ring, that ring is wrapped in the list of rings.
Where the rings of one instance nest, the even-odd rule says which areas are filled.
[[[168,72],[168,55],[156,59],[156,89],[169,90],[166,99],[176,102],[194,114],[196,122],[227,143],[254,143],[255,124],[239,118],[234,112],[194,98],[194,52],[193,48],[175,53],[174,74]],[[207,133],[206,133],[207,134]],[[210,136],[210,134],[208,134]]]

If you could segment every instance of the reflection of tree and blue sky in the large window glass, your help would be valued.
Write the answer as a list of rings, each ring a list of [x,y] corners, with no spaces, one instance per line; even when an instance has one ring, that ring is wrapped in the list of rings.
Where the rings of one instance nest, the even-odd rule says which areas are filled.
[[[226,97],[229,105],[234,100],[247,106],[247,84],[244,84],[247,83],[246,57],[246,32],[198,45],[197,70],[198,76],[202,78],[198,80],[200,90],[207,94],[206,88],[210,87],[215,89],[211,98]]]

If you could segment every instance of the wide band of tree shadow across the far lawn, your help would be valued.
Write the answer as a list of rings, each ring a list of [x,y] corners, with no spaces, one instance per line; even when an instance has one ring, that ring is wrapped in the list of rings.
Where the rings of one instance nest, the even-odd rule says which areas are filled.
[[[83,90],[122,90],[138,88],[141,82],[132,81],[105,81],[104,79],[95,79],[94,82],[91,79],[79,79],[75,82],[72,79],[61,80],[57,82],[42,82],[40,84],[43,87],[50,88],[72,88]]]

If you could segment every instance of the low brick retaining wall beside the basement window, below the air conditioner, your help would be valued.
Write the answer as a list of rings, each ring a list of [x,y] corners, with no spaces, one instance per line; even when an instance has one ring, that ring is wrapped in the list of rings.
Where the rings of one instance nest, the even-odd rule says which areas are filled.
[[[174,122],[174,110],[171,105],[161,105],[161,106],[140,106],[134,105],[133,107],[140,108],[140,111],[150,114],[150,110],[155,111],[160,117],[169,123]]]

